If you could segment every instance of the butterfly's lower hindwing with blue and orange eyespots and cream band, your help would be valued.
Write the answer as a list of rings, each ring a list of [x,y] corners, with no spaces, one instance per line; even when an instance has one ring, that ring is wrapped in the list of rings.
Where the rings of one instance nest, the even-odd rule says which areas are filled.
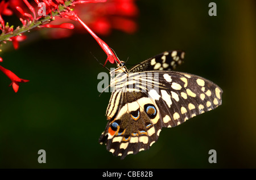
[[[156,142],[162,124],[155,101],[142,92],[123,92],[123,104],[100,137],[114,156],[136,154]]]

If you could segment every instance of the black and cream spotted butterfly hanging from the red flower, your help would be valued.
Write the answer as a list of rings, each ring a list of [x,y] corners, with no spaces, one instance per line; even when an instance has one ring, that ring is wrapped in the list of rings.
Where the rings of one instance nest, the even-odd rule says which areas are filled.
[[[162,127],[175,127],[221,105],[222,89],[205,78],[173,71],[184,52],[156,55],[130,70],[121,61],[110,75],[114,91],[106,110],[108,123],[99,142],[125,158],[158,140]]]

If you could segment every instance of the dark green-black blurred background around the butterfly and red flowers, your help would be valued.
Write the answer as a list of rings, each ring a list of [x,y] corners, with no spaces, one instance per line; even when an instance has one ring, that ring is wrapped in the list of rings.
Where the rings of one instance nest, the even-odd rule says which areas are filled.
[[[208,15],[210,2],[138,0],[137,31],[99,34],[131,65],[182,49],[177,71],[224,91],[220,107],[163,128],[149,150],[124,160],[98,143],[110,93],[97,91],[98,73],[108,70],[92,56],[105,63],[92,36],[33,40],[31,32],[18,50],[1,53],[1,65],[30,82],[15,93],[0,73],[0,168],[256,168],[256,1],[213,1],[217,16]],[[38,163],[39,149],[46,164]]]

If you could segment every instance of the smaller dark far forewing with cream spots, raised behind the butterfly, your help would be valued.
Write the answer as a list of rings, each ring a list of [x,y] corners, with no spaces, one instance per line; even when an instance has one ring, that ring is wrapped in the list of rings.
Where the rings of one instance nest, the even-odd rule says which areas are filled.
[[[181,50],[172,50],[168,52],[163,52],[161,54],[156,55],[139,65],[132,67],[129,72],[142,72],[142,71],[171,71],[175,70],[175,68],[181,63],[183,63],[185,53]]]

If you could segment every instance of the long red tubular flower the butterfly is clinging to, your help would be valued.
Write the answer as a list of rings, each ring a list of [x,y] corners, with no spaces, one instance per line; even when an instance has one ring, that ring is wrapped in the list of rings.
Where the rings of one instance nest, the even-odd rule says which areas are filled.
[[[106,59],[106,62],[110,63],[121,63],[119,59],[115,56],[112,49],[109,48],[109,46],[106,44],[106,42],[102,41],[100,37],[98,37],[82,20],[77,16],[77,14],[73,13],[73,16],[77,19],[77,21],[94,37],[94,39],[98,42],[98,44],[101,46],[101,48],[104,50],[104,52],[108,55],[108,58]],[[106,65],[106,62],[104,66]]]

